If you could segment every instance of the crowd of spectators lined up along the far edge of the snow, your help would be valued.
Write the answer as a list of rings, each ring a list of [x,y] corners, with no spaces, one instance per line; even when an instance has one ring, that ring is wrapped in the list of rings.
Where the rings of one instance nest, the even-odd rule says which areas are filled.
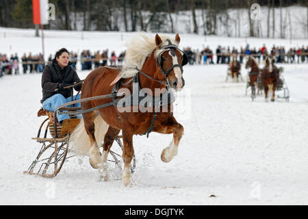
[[[308,63],[308,46],[290,48],[287,51],[284,47],[276,47],[267,49],[265,44],[263,47],[256,49],[251,48],[249,44],[246,47],[221,47],[216,48],[215,53],[209,47],[205,47],[202,50],[194,49],[190,47],[184,48],[183,51],[188,56],[189,64],[229,64],[233,55],[238,57],[238,60],[243,63],[246,55],[253,55],[256,57],[258,62],[265,60],[266,55],[272,55],[277,63]],[[81,51],[78,56],[75,52],[70,52],[70,62],[72,62],[73,68],[76,69],[77,62],[81,64],[81,70],[92,70],[99,66],[120,66],[123,64],[125,58],[125,51],[120,53],[118,56],[114,51],[110,53],[108,49],[103,51],[96,51],[92,53],[89,50]],[[44,61],[43,55],[29,55],[23,54],[23,57],[19,59],[18,55],[11,55],[10,58],[0,53],[0,77],[3,75],[16,75],[16,74],[27,74],[27,73],[42,73],[44,65],[51,63],[53,55],[49,56],[47,63]],[[20,69],[22,67],[22,69]]]

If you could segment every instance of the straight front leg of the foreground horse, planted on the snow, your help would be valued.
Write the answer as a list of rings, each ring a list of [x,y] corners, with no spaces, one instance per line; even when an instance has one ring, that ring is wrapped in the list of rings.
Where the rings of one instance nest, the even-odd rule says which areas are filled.
[[[124,170],[122,181],[124,185],[131,185],[131,159],[133,159],[133,131],[127,129],[122,130],[123,136],[123,162]]]

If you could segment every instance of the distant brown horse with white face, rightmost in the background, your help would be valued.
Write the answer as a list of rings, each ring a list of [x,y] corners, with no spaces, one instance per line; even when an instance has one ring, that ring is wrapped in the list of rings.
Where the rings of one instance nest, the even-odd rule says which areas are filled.
[[[268,99],[268,91],[272,90],[271,101],[275,101],[275,91],[279,83],[279,68],[274,65],[273,57],[266,57],[264,68],[261,70],[261,83],[264,86],[266,100]]]

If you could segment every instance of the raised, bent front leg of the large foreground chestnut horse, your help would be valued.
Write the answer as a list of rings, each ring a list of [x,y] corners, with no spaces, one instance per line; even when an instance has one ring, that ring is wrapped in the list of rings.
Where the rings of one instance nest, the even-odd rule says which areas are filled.
[[[161,159],[163,162],[170,162],[177,155],[179,142],[183,136],[184,128],[173,116],[169,118],[168,123],[160,123],[154,131],[159,133],[173,133],[173,139],[169,146],[162,151]]]

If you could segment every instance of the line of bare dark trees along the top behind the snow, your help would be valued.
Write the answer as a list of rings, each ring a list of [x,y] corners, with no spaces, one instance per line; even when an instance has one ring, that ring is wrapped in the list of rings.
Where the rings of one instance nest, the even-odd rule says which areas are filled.
[[[0,0],[0,26],[34,28],[32,23],[31,0]],[[49,0],[55,5],[55,21],[51,21],[45,29],[66,30],[97,30],[97,31],[140,31],[174,32],[172,14],[190,12],[192,32],[198,34],[216,34],[218,20],[224,23],[233,19],[227,10],[242,8],[249,12],[253,3],[268,7],[268,26],[270,14],[275,8],[290,5],[307,7],[308,31],[308,1],[307,0]],[[202,12],[202,19],[196,18],[196,12]],[[218,16],[220,14],[220,16]],[[250,16],[250,36],[258,36]],[[240,18],[239,25],[240,28]],[[272,16],[272,25],[274,25]],[[276,18],[279,19],[279,18]],[[242,21],[246,23],[246,21]],[[200,27],[203,33],[200,33]],[[273,27],[279,28],[279,27]],[[283,27],[281,27],[283,28]],[[269,28],[268,28],[269,31]],[[274,32],[274,31],[273,31]],[[269,37],[269,33],[268,33]],[[274,36],[275,37],[275,36]],[[280,36],[283,38],[283,36]]]

